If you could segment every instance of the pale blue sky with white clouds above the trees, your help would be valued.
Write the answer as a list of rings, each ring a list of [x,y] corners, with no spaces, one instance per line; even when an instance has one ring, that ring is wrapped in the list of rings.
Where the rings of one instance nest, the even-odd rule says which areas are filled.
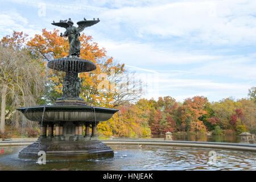
[[[0,38],[100,18],[85,30],[147,82],[146,98],[246,98],[256,86],[256,1],[2,1]],[[64,32],[64,28],[58,28]]]

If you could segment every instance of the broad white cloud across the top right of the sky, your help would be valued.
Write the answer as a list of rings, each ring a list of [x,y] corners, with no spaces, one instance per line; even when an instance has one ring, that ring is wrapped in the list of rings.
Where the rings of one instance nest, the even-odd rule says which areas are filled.
[[[129,27],[137,36],[178,36],[188,42],[248,44],[256,41],[255,1],[182,1],[102,12],[106,28]],[[253,8],[254,7],[254,8]]]

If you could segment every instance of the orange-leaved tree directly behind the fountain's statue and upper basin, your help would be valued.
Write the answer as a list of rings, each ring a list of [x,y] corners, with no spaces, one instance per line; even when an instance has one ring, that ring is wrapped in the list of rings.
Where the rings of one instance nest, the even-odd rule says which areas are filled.
[[[58,34],[59,30],[54,29],[51,32],[43,29],[42,35],[35,35],[27,43],[27,47],[36,55],[44,57],[46,61],[65,57],[68,55],[68,39]],[[113,57],[106,56],[105,49],[99,48],[97,43],[92,42],[92,36],[82,34],[79,39],[81,42],[81,59],[92,61],[97,65],[96,70],[79,74],[80,78],[84,78],[80,97],[85,99],[86,104],[116,107],[125,101],[136,101],[141,96],[140,90],[138,88],[134,90],[122,89],[121,85],[127,84],[127,82],[118,78],[118,76],[127,73],[124,68],[125,65],[114,63]],[[51,102],[56,100],[56,97],[59,97],[62,92],[59,77],[63,77],[63,73],[48,70],[48,89],[52,93],[52,96],[48,98]],[[103,92],[102,88],[105,88],[106,92]]]

